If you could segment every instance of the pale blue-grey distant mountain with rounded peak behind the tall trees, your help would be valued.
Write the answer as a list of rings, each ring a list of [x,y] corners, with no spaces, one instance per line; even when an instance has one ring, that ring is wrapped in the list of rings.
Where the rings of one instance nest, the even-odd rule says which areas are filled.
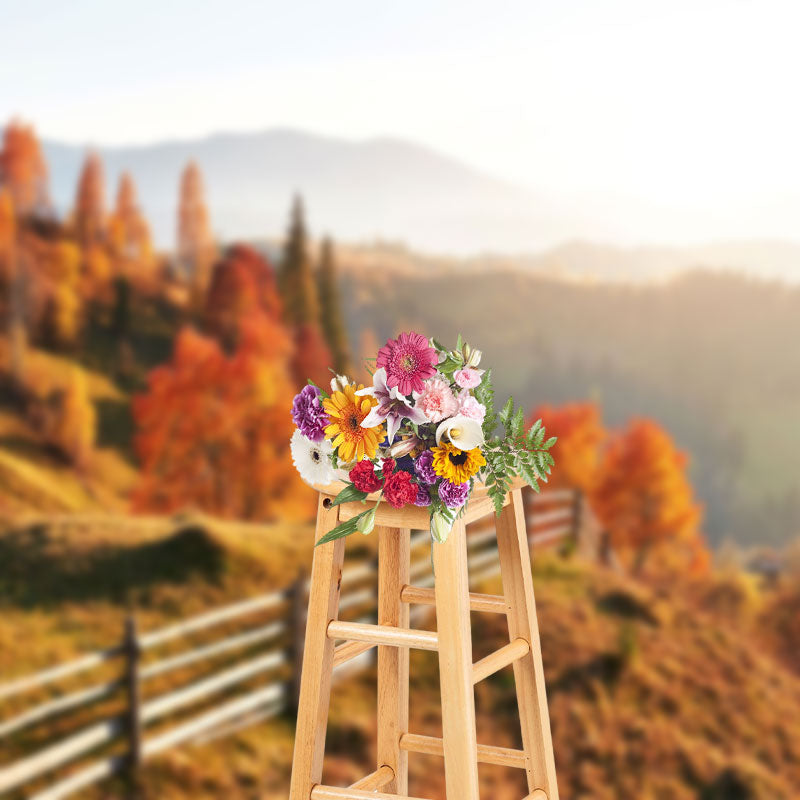
[[[212,224],[222,240],[282,233],[295,192],[306,201],[312,233],[349,241],[381,238],[451,253],[519,252],[568,235],[552,204],[397,139],[350,142],[270,130],[97,149],[109,199],[120,171],[132,172],[160,246],[174,242],[178,178],[189,159],[203,170]],[[45,142],[59,211],[73,203],[85,150]]]

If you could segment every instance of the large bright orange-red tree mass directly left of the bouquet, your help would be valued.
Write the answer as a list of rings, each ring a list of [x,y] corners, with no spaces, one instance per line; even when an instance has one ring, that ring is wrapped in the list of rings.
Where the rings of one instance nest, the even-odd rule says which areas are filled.
[[[289,351],[285,330],[265,314],[243,322],[231,356],[191,328],[180,332],[171,362],[134,399],[135,508],[245,519],[309,513],[289,455]]]

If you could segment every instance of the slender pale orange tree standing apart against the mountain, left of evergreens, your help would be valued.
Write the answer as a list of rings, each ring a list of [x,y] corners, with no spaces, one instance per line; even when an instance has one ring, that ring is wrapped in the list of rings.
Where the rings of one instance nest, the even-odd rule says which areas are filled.
[[[189,282],[202,292],[208,286],[216,257],[205,201],[203,175],[190,161],[181,175],[178,201],[178,264]]]

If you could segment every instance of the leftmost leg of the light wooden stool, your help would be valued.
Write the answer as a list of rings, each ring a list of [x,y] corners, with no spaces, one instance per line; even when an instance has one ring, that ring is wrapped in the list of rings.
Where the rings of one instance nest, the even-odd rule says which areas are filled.
[[[320,495],[316,539],[335,527],[339,519],[338,507],[325,508],[324,500]],[[289,800],[309,800],[311,789],[322,780],[334,649],[327,629],[339,613],[344,542],[336,539],[314,550]]]

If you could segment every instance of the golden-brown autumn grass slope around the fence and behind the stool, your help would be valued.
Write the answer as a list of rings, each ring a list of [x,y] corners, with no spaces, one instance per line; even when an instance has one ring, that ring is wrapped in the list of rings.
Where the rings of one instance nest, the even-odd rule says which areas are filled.
[[[176,534],[175,521],[121,522],[86,518],[0,536],[0,672],[41,667],[115,641],[128,595],[137,600],[143,627],[152,628],[282,585],[310,558],[311,532],[302,526],[184,520]],[[643,589],[550,556],[537,562],[536,585],[565,798],[790,800],[800,794],[800,678],[762,652],[755,622],[762,601],[752,589],[736,581]],[[507,633],[499,618],[474,619],[478,658]],[[412,671],[412,727],[436,734],[435,657],[414,653]],[[510,672],[481,684],[477,703],[481,740],[517,746]],[[337,687],[331,783],[347,784],[371,769],[373,709],[373,674]],[[67,730],[59,723],[45,736]],[[146,795],[283,798],[291,747],[288,719],[186,746],[150,765]],[[422,756],[411,763],[412,793],[442,797],[441,763]],[[493,800],[523,794],[513,772],[482,768],[482,779],[484,796]],[[104,787],[87,796],[121,792]]]

